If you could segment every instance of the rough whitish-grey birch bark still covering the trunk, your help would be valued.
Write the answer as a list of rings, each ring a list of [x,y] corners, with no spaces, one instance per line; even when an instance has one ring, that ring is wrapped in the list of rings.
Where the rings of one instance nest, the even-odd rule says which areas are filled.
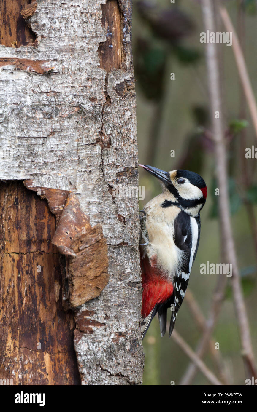
[[[0,67],[0,147],[9,153],[0,156],[0,179],[73,192],[92,227],[102,226],[110,280],[75,314],[74,347],[83,384],[127,385],[141,383],[144,363],[137,198],[113,195],[120,184],[138,185],[132,2],[119,1],[120,46],[106,48],[104,66],[105,3],[38,0],[26,20],[37,47],[0,45],[0,59],[17,62]],[[26,59],[50,71],[17,70]]]

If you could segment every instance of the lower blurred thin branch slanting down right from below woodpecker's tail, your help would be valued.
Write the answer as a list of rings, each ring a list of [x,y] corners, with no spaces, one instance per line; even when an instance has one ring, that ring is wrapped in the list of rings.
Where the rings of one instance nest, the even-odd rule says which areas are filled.
[[[186,353],[187,356],[195,363],[197,368],[203,373],[212,385],[223,385],[222,382],[210,371],[205,363],[196,355],[191,347],[184,341],[176,330],[172,332],[172,339],[179,345],[179,347]]]

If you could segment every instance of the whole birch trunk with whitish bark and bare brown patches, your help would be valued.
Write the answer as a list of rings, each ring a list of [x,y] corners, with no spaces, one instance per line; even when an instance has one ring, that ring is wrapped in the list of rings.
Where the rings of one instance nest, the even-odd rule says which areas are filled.
[[[0,2],[0,377],[141,384],[132,0],[28,3]]]

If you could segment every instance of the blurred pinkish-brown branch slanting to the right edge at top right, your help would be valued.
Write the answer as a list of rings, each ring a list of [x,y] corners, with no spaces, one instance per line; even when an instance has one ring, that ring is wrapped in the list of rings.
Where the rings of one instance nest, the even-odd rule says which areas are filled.
[[[250,110],[253,126],[254,126],[254,129],[255,129],[255,134],[256,134],[256,138],[257,138],[257,105],[256,105],[254,93],[252,91],[252,86],[251,86],[248,71],[247,71],[247,68],[246,68],[243,52],[242,52],[242,49],[240,47],[238,37],[236,35],[236,31],[233,27],[233,24],[231,22],[231,19],[229,17],[228,12],[225,9],[225,7],[219,7],[219,12],[220,12],[220,15],[222,17],[222,21],[224,23],[224,26],[225,26],[226,30],[228,32],[233,33],[233,36],[232,36],[232,39],[233,39],[232,40],[232,49],[233,49],[234,56],[235,56],[235,59],[236,59],[236,65],[237,65],[237,68],[238,68],[238,73],[239,73],[240,80],[241,80],[243,90],[244,90],[244,93],[245,93],[245,98],[246,98],[247,103],[248,103],[248,107],[249,107],[249,110]]]

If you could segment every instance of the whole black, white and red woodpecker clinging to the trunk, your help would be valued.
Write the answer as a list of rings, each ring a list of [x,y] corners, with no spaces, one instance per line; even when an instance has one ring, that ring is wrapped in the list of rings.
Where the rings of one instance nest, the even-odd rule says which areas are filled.
[[[200,210],[207,187],[197,173],[165,172],[139,164],[160,180],[163,193],[150,200],[141,216],[140,246],[143,300],[141,338],[158,313],[160,333],[166,332],[171,309],[170,335],[182,304],[200,239]]]

